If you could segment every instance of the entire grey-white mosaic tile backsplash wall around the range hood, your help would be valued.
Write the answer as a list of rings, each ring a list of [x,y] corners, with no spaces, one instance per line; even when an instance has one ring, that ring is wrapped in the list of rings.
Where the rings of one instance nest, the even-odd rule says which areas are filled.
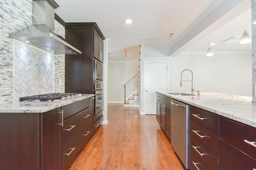
[[[17,101],[20,95],[34,95],[46,91],[64,92],[65,55],[50,54],[49,57],[48,52],[9,37],[10,33],[32,25],[32,15],[32,0],[0,0],[0,104]],[[58,21],[55,21],[54,32],[65,37],[65,28]],[[22,58],[26,61],[21,61]],[[27,63],[28,61],[31,63]],[[51,68],[47,72],[44,70],[45,62],[49,61],[52,63],[49,64]],[[39,64],[38,75],[25,72],[26,69],[32,69],[27,66],[36,62]],[[23,75],[20,74],[22,69]],[[52,83],[47,84],[49,82]]]

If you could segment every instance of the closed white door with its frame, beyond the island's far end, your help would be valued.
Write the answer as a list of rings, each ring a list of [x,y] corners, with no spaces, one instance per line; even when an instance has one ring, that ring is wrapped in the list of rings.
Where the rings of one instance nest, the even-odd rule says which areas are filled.
[[[144,111],[145,114],[156,114],[156,91],[167,91],[168,63],[144,63]]]

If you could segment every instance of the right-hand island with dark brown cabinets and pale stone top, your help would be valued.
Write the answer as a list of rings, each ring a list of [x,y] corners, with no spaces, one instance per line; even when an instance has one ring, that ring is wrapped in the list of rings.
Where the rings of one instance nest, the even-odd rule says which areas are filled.
[[[178,126],[178,129],[186,132],[184,152],[180,154],[180,150],[173,146],[186,168],[256,168],[256,104],[252,104],[252,97],[216,93],[178,96],[175,93],[156,92],[156,100],[156,119],[171,144],[183,140],[179,136],[184,135],[174,137],[172,133],[177,129],[174,127]],[[174,111],[174,106],[182,108],[182,103],[177,102],[187,105],[182,124],[174,116],[184,115]],[[187,157],[182,159],[184,154]]]

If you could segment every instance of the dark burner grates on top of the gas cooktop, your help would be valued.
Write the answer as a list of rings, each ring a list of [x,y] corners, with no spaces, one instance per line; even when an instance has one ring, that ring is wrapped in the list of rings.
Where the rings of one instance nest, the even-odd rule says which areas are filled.
[[[78,93],[49,93],[49,94],[39,94],[39,95],[34,95],[34,96],[26,96],[26,97],[21,97],[20,102],[30,100],[30,101],[54,101],[55,99],[62,98],[63,96],[71,96],[71,95],[76,95]]]

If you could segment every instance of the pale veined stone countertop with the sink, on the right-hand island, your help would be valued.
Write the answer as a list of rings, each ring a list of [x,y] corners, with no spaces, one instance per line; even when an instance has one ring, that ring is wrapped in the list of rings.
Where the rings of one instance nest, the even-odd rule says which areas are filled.
[[[202,92],[200,92],[200,96],[177,96],[166,92],[157,93],[256,127],[256,104],[252,104],[252,97]],[[190,93],[188,92],[188,94]]]

